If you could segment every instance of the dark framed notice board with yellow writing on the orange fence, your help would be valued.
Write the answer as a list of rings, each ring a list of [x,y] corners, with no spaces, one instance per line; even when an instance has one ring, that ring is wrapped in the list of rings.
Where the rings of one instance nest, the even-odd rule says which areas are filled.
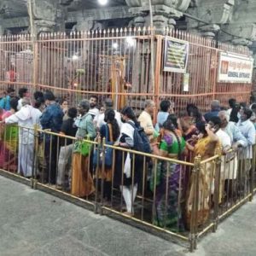
[[[164,71],[186,73],[189,58],[189,42],[166,37]]]

